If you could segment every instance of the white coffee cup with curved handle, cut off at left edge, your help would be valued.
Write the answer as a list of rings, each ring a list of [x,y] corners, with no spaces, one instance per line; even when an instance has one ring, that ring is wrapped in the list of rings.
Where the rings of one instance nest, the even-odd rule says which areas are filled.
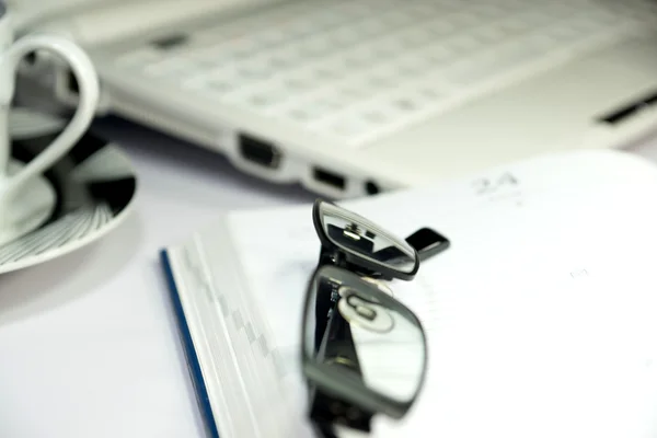
[[[49,51],[70,66],[79,87],[79,104],[59,136],[26,165],[11,159],[9,110],[21,60],[36,50]],[[11,16],[0,2],[0,245],[38,227],[55,205],[54,189],[43,173],[65,155],[91,125],[99,103],[99,78],[87,54],[57,35],[30,34],[14,42]]]

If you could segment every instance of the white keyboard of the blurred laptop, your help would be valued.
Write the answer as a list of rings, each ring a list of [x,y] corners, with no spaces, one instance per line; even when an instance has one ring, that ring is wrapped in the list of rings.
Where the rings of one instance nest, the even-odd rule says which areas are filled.
[[[123,54],[189,96],[358,147],[655,26],[650,0],[285,3]]]

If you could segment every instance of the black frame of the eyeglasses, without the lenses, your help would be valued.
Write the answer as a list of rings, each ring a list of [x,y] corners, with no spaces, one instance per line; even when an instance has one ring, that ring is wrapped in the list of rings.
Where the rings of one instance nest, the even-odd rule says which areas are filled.
[[[415,261],[412,270],[407,273],[400,272],[399,269],[391,268],[382,263],[377,263],[368,257],[359,256],[355,252],[345,251],[335,244],[324,231],[321,217],[323,204],[330,204],[335,208],[344,210],[346,214],[348,214],[349,218],[353,218],[358,222],[357,224],[362,226],[365,229],[371,229],[382,235],[385,235],[392,243],[403,242],[404,244],[410,245],[413,249]],[[336,309],[338,301],[337,295],[333,292],[326,296],[320,296],[322,291],[318,286],[319,281],[321,278],[323,278],[324,273],[328,272],[330,274],[333,274],[333,277],[343,279],[346,278],[348,281],[350,281],[350,288],[357,288],[357,290],[367,291],[368,293],[380,297],[383,302],[391,304],[391,307],[393,306],[395,311],[400,311],[403,316],[408,318],[414,324],[417,325],[419,332],[422,333],[423,348],[425,351],[427,351],[428,348],[424,327],[413,311],[395,300],[393,297],[383,292],[374,283],[367,281],[362,277],[370,277],[381,280],[390,280],[393,278],[412,280],[419,269],[420,261],[427,260],[447,250],[450,246],[450,242],[441,234],[427,228],[419,229],[405,240],[401,240],[366,218],[362,218],[353,211],[346,210],[323,199],[315,200],[313,205],[312,219],[316,234],[321,242],[321,250],[318,266],[311,275],[310,281],[307,286],[302,312],[303,328],[301,339],[301,364],[303,377],[308,384],[309,391],[309,417],[322,437],[335,437],[336,425],[369,433],[371,418],[376,414],[383,414],[399,419],[403,417],[411,408],[424,385],[428,355],[425,353],[422,374],[419,376],[418,380],[418,389],[414,397],[410,401],[394,400],[377,391],[368,389],[362,382],[362,379],[345,376],[345,373],[336,369],[335,366],[327,366],[324,362],[316,360],[319,357],[319,347],[324,343],[324,341],[320,341],[318,334],[321,333],[321,339],[325,339],[331,331],[335,330],[336,325],[342,324],[341,326],[347,327],[347,330],[349,326],[349,323],[342,318]],[[419,232],[431,232],[431,235],[435,235],[436,239],[431,242],[423,242],[420,246],[416,246],[413,243],[418,242],[416,237]],[[311,306],[313,300],[314,306]],[[322,310],[327,309],[325,321],[321,321],[320,316],[318,316],[320,300],[322,300],[324,304]],[[309,357],[307,353],[306,342],[308,338],[307,322],[309,321],[310,316],[309,312],[315,312],[316,319],[313,338],[315,355],[312,357]],[[320,315],[322,314],[323,312],[320,312]],[[353,345],[353,339],[350,339],[350,332],[349,341],[350,345],[348,345],[346,348],[350,347],[354,349],[355,347]],[[336,404],[341,406],[341,408],[337,410],[339,413],[336,413],[336,410],[332,410],[332,406],[335,406]],[[351,412],[358,415],[351,415],[349,418],[348,416],[342,414],[344,412]]]

